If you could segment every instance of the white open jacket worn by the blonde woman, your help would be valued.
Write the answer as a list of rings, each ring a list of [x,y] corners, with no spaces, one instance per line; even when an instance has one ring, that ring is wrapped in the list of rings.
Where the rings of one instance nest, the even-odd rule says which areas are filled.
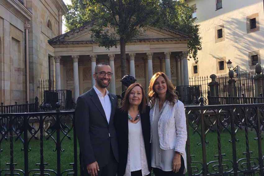
[[[156,101],[158,101],[158,99]],[[156,106],[158,106],[156,101],[153,102],[154,106],[150,109],[149,113],[151,128],[150,143],[152,138],[154,112]],[[182,153],[186,170],[185,145],[187,141],[187,130],[184,104],[180,100],[176,100],[174,106],[171,106],[167,101],[165,103],[166,106],[164,107],[162,115],[158,121],[160,148],[163,150],[174,149],[174,151]]]

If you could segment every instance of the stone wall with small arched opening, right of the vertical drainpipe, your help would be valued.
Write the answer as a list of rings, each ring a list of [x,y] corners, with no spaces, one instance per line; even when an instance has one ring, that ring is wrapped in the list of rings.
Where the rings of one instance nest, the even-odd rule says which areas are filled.
[[[48,79],[48,56],[54,56],[54,48],[47,41],[59,35],[59,11],[53,0],[28,0],[27,7],[36,14],[30,21],[29,31],[30,102],[34,102],[39,79]]]

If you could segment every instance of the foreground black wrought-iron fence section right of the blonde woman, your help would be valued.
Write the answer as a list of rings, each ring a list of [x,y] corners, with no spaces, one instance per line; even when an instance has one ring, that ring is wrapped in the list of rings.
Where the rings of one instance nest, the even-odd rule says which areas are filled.
[[[263,176],[264,104],[186,106],[188,175]]]

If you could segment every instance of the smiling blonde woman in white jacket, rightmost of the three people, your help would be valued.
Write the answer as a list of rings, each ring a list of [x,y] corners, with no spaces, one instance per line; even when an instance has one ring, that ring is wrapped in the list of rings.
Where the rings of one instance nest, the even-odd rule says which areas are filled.
[[[181,176],[186,172],[187,140],[184,105],[163,72],[149,84],[151,167],[155,176]]]

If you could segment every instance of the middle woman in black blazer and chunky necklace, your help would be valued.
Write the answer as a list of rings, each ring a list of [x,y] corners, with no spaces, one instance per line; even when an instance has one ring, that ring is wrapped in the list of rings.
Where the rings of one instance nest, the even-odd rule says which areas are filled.
[[[115,113],[119,150],[118,176],[150,176],[149,107],[144,89],[131,84]]]

